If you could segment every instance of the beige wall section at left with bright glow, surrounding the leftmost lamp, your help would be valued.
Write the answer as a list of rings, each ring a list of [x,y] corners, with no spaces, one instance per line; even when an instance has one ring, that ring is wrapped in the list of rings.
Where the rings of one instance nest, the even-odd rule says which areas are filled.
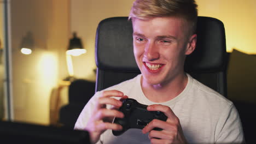
[[[49,124],[50,94],[67,76],[68,0],[11,0],[11,56],[14,120]],[[31,55],[20,52],[31,34]]]

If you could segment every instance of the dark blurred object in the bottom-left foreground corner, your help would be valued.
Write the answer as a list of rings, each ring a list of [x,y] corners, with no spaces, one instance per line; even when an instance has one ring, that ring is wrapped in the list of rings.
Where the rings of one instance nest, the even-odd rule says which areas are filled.
[[[88,131],[62,127],[0,121],[1,143],[90,143]]]

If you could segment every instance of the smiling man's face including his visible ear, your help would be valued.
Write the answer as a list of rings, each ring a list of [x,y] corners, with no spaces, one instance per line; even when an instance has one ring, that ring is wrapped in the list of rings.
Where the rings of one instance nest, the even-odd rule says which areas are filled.
[[[176,17],[133,19],[133,52],[143,80],[165,85],[184,75],[185,55],[193,52],[196,35],[187,37]]]

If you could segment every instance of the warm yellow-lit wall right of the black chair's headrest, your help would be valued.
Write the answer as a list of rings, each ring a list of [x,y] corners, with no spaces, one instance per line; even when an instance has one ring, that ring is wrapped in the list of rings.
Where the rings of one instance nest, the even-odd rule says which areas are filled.
[[[216,17],[225,26],[226,48],[256,54],[255,0],[196,0],[199,15]]]

